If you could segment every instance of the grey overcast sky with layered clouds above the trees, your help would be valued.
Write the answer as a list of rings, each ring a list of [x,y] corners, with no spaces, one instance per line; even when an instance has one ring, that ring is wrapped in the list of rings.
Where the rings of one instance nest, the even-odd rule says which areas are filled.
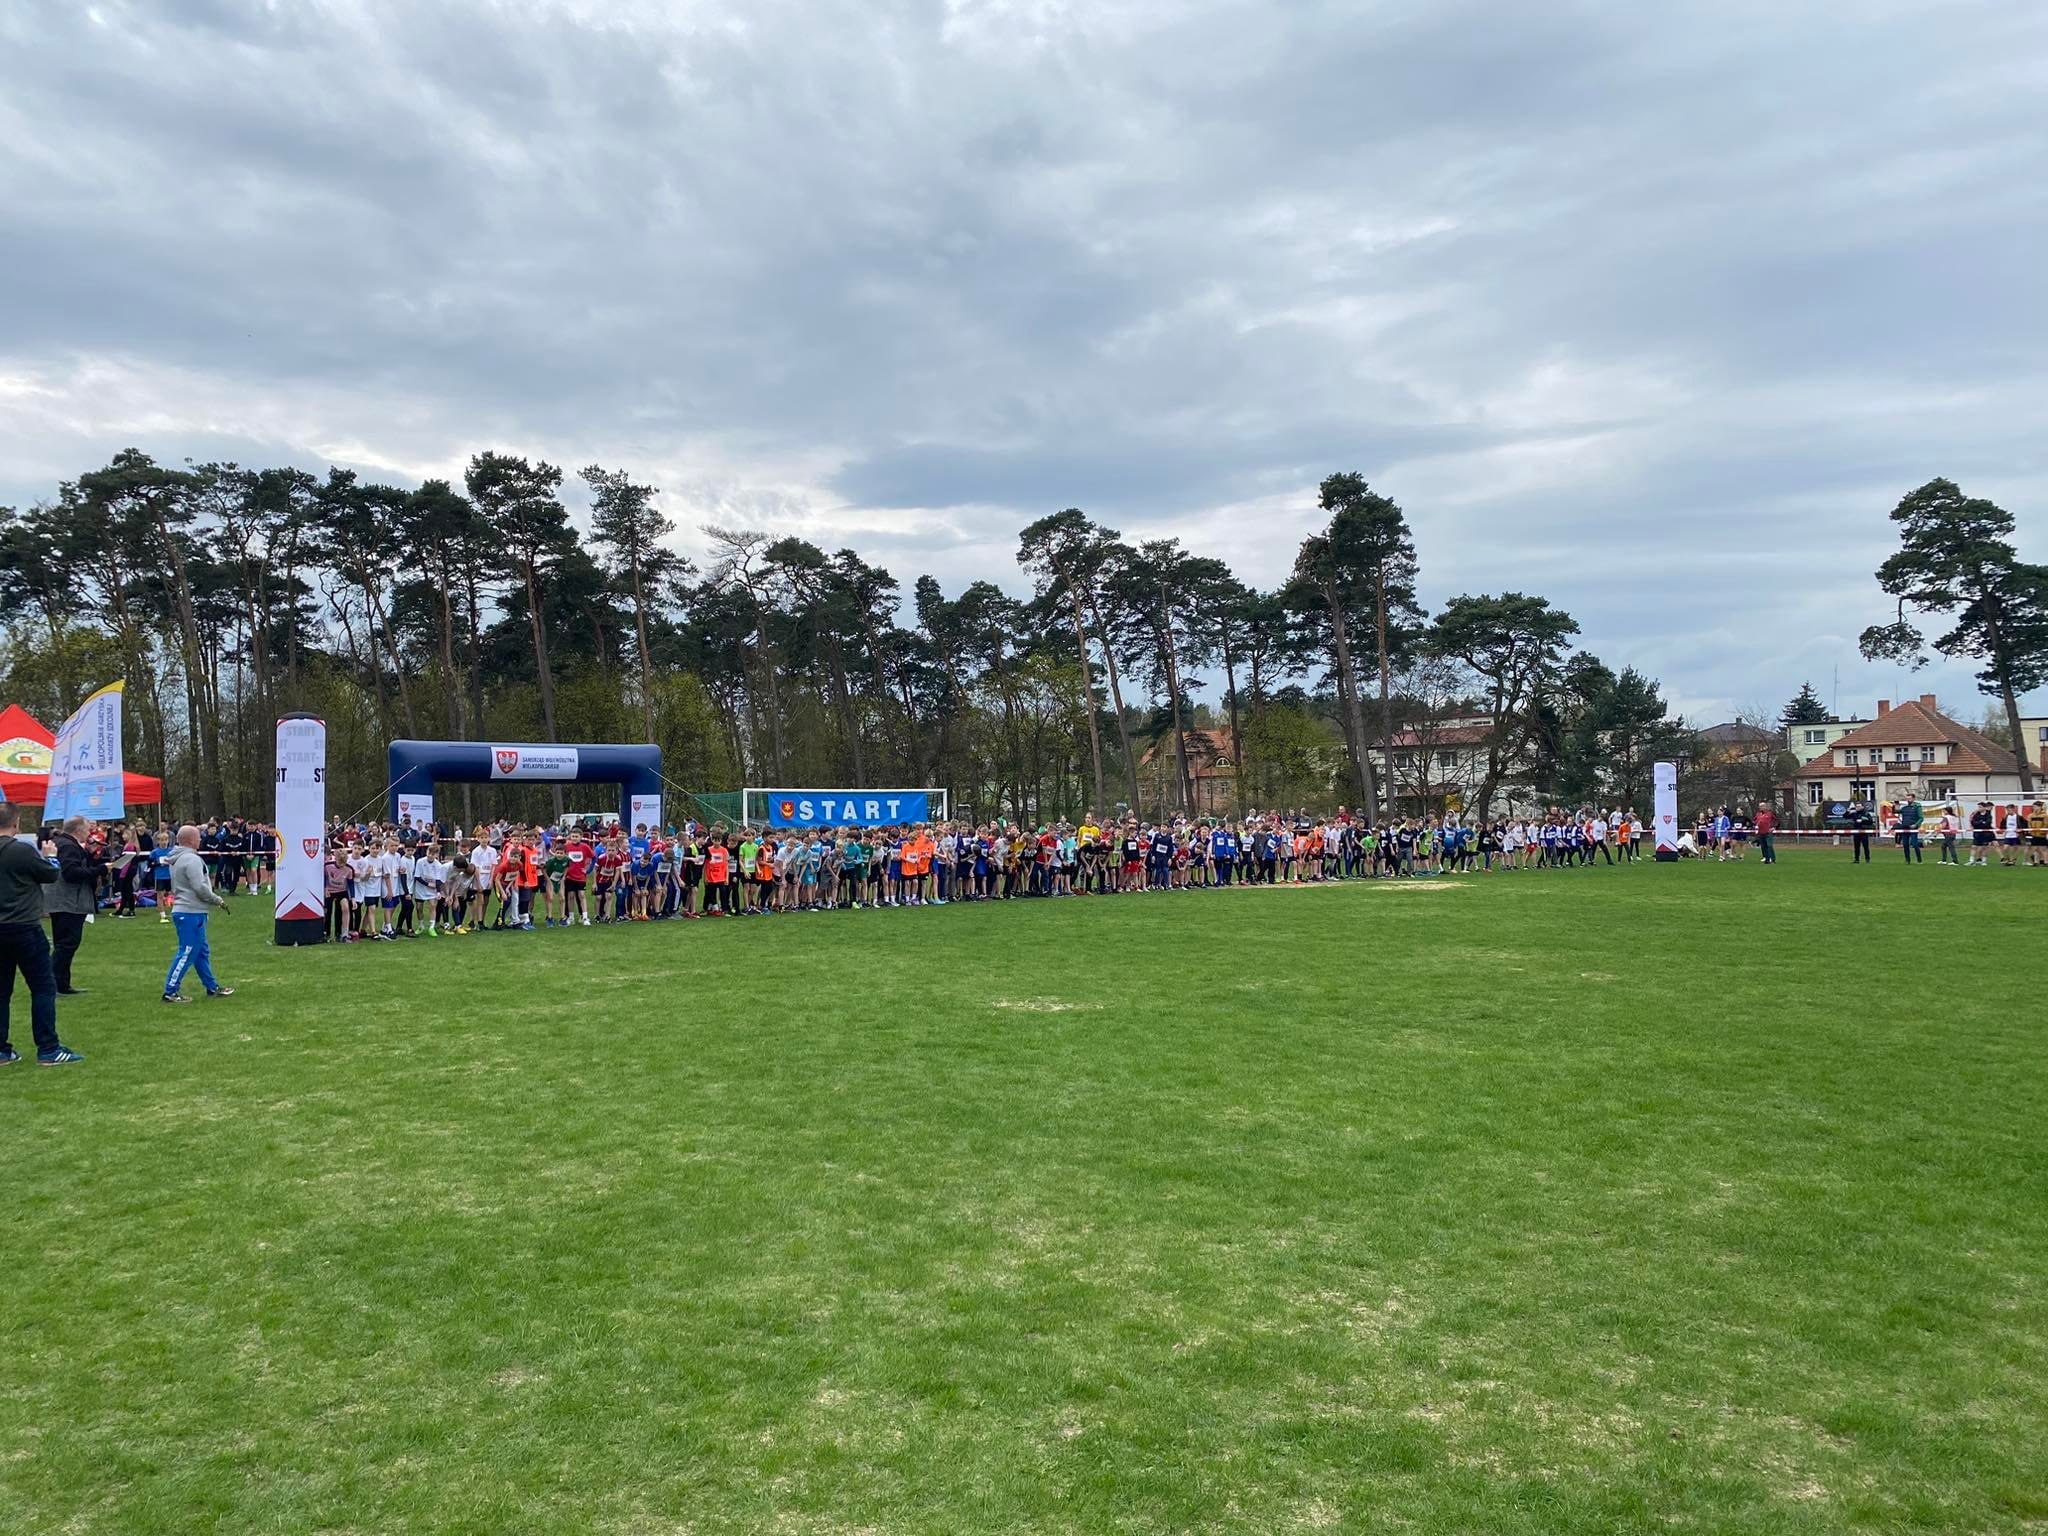
[[[1358,469],[1696,717],[1974,719],[1855,633],[1931,475],[2048,559],[2044,100],[2011,0],[10,0],[0,504],[496,446],[905,586],[1063,506],[1274,582]]]

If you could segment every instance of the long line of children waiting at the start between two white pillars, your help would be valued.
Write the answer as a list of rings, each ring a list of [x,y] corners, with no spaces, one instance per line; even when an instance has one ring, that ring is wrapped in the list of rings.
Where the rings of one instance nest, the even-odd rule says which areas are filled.
[[[330,926],[342,940],[530,932],[672,918],[924,907],[954,901],[1198,891],[1413,879],[1636,856],[1632,815],[1464,825],[1456,815],[1368,827],[1350,817],[1253,817],[1243,825],[944,823],[664,836],[580,827],[477,827],[465,846],[426,836],[338,842],[328,854]],[[1614,852],[1610,852],[1614,850]],[[539,911],[537,911],[539,909]]]

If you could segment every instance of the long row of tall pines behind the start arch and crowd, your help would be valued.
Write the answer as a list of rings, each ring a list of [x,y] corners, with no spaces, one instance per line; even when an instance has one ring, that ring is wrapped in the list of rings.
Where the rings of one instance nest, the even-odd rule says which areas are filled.
[[[1481,815],[1509,786],[1645,803],[1657,758],[1698,756],[1657,682],[1579,649],[1546,598],[1425,612],[1407,516],[1356,473],[1323,481],[1276,588],[1067,508],[1020,532],[1028,596],[905,590],[758,528],[705,526],[690,561],[653,485],[580,479],[588,530],[557,465],[508,453],[399,487],[129,449],[0,508],[6,688],[55,723],[127,678],[129,764],[201,817],[264,811],[272,723],[299,709],[328,721],[336,811],[381,799],[395,735],[647,739],[692,793],[942,784],[1022,821],[1196,805],[1194,731],[1235,743],[1237,811],[1442,809],[1389,770],[1397,737],[1427,748],[1450,719],[1485,721]]]

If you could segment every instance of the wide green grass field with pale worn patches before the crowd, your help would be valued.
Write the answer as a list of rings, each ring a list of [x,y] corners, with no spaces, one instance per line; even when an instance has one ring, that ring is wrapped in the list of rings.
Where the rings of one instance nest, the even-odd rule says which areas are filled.
[[[2044,1530],[2044,918],[1827,854],[246,901],[184,1010],[100,922],[86,1065],[0,1071],[0,1530]]]

